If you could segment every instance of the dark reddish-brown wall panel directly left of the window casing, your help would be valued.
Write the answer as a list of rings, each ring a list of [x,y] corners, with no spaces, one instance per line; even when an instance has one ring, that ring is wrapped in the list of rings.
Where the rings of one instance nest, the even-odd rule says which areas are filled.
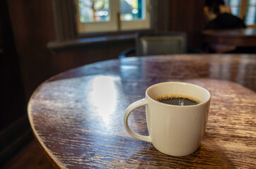
[[[47,42],[55,39],[51,1],[8,1],[9,15],[20,57],[26,99],[54,73]]]

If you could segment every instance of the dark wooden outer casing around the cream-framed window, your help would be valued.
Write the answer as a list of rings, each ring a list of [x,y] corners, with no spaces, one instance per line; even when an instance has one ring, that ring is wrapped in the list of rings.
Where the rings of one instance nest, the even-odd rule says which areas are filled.
[[[149,1],[151,2],[151,6],[158,6],[158,1]],[[55,32],[57,34],[57,42],[65,42],[70,40],[74,41],[76,39],[83,39],[88,37],[117,36],[135,34],[136,32],[152,32],[155,29],[156,18],[158,17],[158,11],[156,10],[156,8],[152,8],[151,24],[149,29],[78,33],[78,28],[76,25],[77,11],[74,0],[52,0],[52,6],[54,12],[54,25]],[[51,48],[52,45],[50,44],[48,46],[50,46]]]

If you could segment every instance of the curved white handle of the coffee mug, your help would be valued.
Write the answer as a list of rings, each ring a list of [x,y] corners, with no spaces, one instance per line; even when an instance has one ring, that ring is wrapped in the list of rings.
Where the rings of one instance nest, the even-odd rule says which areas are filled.
[[[128,125],[128,117],[130,115],[130,113],[132,113],[132,111],[134,111],[135,108],[138,108],[140,106],[145,106],[147,104],[146,99],[141,99],[139,101],[135,101],[134,103],[130,104],[127,109],[124,112],[124,127],[127,130],[127,132],[134,138],[136,139],[141,139],[142,141],[145,142],[151,142],[151,138],[150,136],[146,136],[146,135],[141,135],[138,134],[134,131],[132,131]]]

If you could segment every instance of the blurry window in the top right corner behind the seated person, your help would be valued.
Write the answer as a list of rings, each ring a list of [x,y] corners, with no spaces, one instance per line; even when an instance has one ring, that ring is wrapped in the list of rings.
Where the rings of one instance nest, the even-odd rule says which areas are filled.
[[[256,24],[256,0],[226,0],[231,13],[245,20],[245,25]]]

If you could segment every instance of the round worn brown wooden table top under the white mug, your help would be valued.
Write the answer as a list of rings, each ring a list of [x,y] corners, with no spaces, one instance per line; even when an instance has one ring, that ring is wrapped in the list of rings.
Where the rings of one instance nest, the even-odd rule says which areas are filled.
[[[211,92],[202,144],[174,157],[131,137],[124,110],[151,84],[192,82]],[[256,54],[124,58],[85,65],[38,87],[28,104],[35,137],[57,168],[256,168]],[[145,108],[129,117],[147,134]],[[35,155],[36,156],[36,155]]]

